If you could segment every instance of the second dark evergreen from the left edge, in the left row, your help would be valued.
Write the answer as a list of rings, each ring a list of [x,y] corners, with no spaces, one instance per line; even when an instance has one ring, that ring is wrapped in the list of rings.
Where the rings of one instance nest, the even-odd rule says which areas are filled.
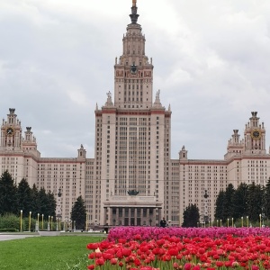
[[[18,212],[23,210],[23,217],[28,217],[29,212],[32,211],[32,193],[25,178],[18,184]]]

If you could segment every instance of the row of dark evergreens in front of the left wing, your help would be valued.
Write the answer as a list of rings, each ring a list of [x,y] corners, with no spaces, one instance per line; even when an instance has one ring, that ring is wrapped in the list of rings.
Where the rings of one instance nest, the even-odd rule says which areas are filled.
[[[23,217],[29,216],[30,211],[32,217],[37,217],[38,213],[44,217],[55,216],[56,205],[53,193],[47,193],[44,188],[38,190],[35,184],[31,188],[25,178],[16,185],[8,171],[1,175],[0,215],[19,215],[23,210]]]

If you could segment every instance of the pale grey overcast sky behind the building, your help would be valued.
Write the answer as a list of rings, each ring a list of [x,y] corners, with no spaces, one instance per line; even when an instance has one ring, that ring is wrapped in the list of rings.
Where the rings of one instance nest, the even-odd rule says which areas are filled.
[[[94,109],[113,94],[132,0],[0,0],[0,116],[15,108],[41,157],[94,157]],[[172,158],[222,159],[251,112],[270,145],[270,1],[138,0]],[[267,150],[268,152],[268,150]]]

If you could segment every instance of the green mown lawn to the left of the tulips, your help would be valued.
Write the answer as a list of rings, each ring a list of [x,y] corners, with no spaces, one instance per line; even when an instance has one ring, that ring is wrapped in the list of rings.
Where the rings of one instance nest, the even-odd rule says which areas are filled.
[[[101,237],[33,237],[0,242],[1,270],[85,270],[86,245]]]

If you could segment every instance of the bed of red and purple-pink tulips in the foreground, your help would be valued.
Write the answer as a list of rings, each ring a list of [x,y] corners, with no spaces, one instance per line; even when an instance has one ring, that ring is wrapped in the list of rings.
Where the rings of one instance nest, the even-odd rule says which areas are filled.
[[[87,248],[88,269],[270,269],[269,229],[111,229]]]

